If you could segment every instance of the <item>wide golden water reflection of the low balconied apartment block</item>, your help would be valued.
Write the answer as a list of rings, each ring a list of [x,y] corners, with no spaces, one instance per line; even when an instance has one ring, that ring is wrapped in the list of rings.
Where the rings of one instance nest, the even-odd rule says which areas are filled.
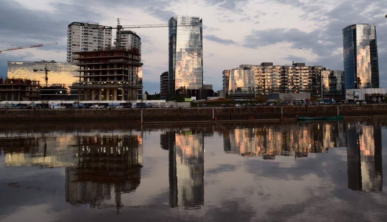
[[[327,152],[329,148],[344,146],[345,129],[339,121],[266,125],[235,128],[224,132],[224,150],[243,156],[262,156],[275,159],[277,155],[295,158],[308,153]]]

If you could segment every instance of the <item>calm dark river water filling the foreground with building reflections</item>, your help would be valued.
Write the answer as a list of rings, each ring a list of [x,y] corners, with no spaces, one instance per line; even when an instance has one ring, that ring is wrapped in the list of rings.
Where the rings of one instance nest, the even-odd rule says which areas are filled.
[[[385,118],[131,125],[2,123],[0,221],[387,220]]]

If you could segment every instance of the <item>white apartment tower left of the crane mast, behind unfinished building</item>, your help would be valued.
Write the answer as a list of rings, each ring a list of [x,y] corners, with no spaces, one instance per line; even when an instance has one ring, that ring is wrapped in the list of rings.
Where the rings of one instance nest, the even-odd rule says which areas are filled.
[[[93,29],[98,27],[99,29]],[[80,51],[96,51],[111,48],[111,27],[98,22],[73,22],[67,29],[67,61],[72,62]]]

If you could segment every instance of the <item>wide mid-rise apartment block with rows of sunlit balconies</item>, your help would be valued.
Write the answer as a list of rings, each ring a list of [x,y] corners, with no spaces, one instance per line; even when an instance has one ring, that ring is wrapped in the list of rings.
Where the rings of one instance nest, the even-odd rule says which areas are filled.
[[[270,93],[310,93],[321,98],[321,65],[240,65],[223,71],[223,90],[230,99],[269,98]]]

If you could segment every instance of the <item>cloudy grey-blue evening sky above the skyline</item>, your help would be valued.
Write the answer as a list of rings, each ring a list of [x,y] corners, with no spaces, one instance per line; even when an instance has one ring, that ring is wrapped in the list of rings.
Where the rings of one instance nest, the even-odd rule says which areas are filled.
[[[342,29],[376,26],[380,87],[387,88],[387,1],[385,0],[0,0],[0,49],[7,61],[66,61],[67,26],[97,21],[103,26],[165,24],[172,16],[203,20],[203,78],[222,89],[222,72],[241,64],[323,65],[343,70]],[[125,29],[142,42],[144,91],[160,92],[168,71],[168,27]],[[115,29],[113,29],[113,38]]]

